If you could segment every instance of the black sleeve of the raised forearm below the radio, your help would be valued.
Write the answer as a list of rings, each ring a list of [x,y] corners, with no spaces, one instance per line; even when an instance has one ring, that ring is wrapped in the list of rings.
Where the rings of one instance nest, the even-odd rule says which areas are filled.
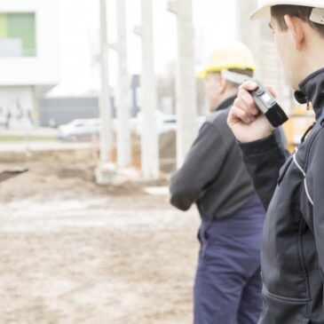
[[[239,143],[239,146],[257,194],[267,209],[277,186],[281,166],[289,155],[281,141],[281,133],[276,130],[268,138]]]

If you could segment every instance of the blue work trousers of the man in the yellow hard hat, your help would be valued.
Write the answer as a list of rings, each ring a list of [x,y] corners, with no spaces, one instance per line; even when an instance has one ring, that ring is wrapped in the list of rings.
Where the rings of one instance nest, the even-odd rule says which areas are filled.
[[[202,217],[194,324],[256,324],[262,310],[260,249],[265,209],[257,195],[232,217]]]

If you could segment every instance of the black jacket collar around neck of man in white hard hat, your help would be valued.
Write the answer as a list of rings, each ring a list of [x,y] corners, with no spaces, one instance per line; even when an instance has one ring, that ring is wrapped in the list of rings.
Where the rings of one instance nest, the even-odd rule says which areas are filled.
[[[316,119],[320,118],[324,107],[324,68],[312,73],[299,84],[300,91],[295,92],[295,98],[300,104],[312,102]]]

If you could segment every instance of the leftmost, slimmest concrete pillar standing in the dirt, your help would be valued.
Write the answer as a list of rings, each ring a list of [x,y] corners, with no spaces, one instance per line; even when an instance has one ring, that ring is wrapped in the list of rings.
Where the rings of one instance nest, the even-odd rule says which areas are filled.
[[[99,98],[100,129],[100,162],[96,170],[96,179],[99,184],[107,184],[108,164],[111,162],[113,149],[113,134],[111,120],[111,103],[108,71],[108,40],[107,40],[107,0],[100,0],[100,76],[101,90]]]

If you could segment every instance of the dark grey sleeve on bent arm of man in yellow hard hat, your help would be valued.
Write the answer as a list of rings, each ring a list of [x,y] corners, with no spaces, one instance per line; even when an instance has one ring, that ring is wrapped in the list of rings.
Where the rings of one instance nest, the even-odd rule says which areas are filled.
[[[170,203],[181,210],[189,209],[217,177],[225,154],[221,133],[213,123],[205,122],[183,166],[171,177]]]

